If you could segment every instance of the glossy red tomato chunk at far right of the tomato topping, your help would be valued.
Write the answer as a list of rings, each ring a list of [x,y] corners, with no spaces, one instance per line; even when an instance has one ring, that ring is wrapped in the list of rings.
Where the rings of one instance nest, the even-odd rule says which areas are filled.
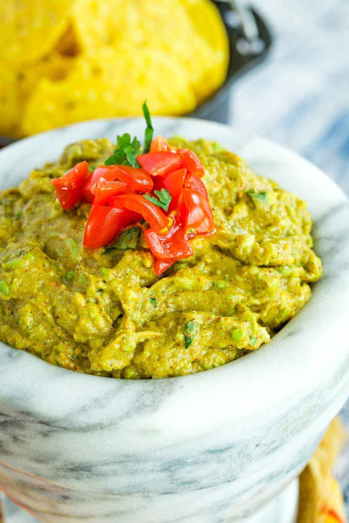
[[[184,187],[178,202],[179,215],[186,233],[211,234],[215,230],[209,201],[198,190]]]

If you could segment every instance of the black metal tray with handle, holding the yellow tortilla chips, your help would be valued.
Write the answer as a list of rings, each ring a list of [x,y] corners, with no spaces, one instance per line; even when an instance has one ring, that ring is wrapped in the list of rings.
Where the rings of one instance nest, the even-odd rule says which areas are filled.
[[[236,18],[233,17],[233,8],[228,3],[219,0],[215,0],[215,4],[222,15],[229,36],[230,62],[228,74],[226,81],[218,91],[187,116],[227,123],[229,120],[231,87],[240,76],[265,60],[272,46],[272,35],[263,18],[258,15],[254,9],[251,9],[258,29],[259,51],[241,52],[241,49],[244,49],[243,43],[245,40],[242,28],[237,27],[235,23],[231,23],[232,20],[236,20]],[[4,147],[15,141],[16,139],[14,138],[0,136],[0,147]]]

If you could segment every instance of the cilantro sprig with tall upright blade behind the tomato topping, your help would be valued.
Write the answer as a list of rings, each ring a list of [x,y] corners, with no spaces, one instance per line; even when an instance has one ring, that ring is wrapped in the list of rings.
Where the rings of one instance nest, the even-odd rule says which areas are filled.
[[[144,147],[142,152],[148,153],[151,141],[153,139],[154,129],[146,101],[142,107],[145,122],[147,123],[147,127],[145,128],[144,133]],[[140,167],[139,163],[137,162],[137,156],[141,154],[141,143],[139,140],[136,137],[131,140],[129,133],[124,133],[122,136],[118,135],[117,140],[118,144],[114,153],[111,154],[109,158],[107,158],[107,160],[104,162],[104,165],[130,165],[134,169]]]

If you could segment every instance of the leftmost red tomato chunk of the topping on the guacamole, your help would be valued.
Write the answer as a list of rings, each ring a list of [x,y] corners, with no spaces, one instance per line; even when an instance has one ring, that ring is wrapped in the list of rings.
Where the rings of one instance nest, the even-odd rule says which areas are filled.
[[[80,162],[63,174],[60,178],[53,178],[56,196],[64,210],[70,209],[81,201],[81,188],[89,175],[88,163]]]

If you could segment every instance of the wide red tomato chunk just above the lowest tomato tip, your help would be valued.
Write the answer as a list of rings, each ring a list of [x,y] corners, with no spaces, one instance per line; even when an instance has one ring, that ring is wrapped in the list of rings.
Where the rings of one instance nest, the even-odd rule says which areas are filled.
[[[152,228],[144,230],[151,252],[155,258],[161,260],[178,260],[192,256],[193,249],[179,221],[179,213],[171,214],[170,220],[170,227],[160,232]]]

